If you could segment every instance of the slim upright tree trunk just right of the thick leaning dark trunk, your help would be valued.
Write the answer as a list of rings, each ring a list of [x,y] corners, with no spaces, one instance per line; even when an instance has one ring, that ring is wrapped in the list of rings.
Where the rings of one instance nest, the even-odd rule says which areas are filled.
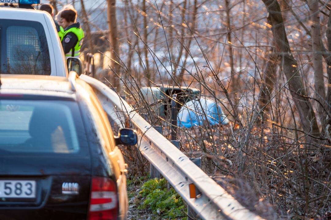
[[[323,63],[322,63],[322,47],[321,47],[321,27],[319,21],[318,0],[309,0],[308,2],[310,10],[311,21],[311,45],[313,53],[313,66],[314,66],[314,86],[315,86],[315,98],[325,106],[325,87],[323,79]],[[325,129],[326,112],[322,106],[317,103],[317,112],[321,121],[323,129]]]

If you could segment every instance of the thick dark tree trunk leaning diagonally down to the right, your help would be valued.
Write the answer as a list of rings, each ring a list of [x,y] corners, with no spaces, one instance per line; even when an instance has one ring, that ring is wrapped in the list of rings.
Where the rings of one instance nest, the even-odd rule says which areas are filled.
[[[298,63],[290,50],[279,4],[276,0],[262,1],[269,13],[267,19],[269,24],[272,25],[271,31],[274,44],[279,52],[280,60],[282,61],[284,74],[288,80],[288,87],[299,111],[302,127],[306,133],[318,136],[319,129],[315,113],[307,98],[302,76],[300,76],[299,73]]]

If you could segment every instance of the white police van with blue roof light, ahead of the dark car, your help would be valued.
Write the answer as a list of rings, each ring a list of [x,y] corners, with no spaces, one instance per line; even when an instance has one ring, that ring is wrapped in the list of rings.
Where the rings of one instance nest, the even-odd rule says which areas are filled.
[[[34,4],[40,0],[0,0],[0,74],[67,77],[53,18]]]

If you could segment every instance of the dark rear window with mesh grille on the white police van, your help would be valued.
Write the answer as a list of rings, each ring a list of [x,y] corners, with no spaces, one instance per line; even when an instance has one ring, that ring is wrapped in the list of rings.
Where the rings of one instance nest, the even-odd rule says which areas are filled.
[[[0,71],[51,75],[45,30],[36,21],[0,19]]]

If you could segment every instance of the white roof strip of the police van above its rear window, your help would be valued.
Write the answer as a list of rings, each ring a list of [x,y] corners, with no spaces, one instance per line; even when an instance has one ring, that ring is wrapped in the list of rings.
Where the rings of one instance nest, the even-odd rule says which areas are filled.
[[[24,8],[0,7],[1,19],[39,21],[47,12]]]

